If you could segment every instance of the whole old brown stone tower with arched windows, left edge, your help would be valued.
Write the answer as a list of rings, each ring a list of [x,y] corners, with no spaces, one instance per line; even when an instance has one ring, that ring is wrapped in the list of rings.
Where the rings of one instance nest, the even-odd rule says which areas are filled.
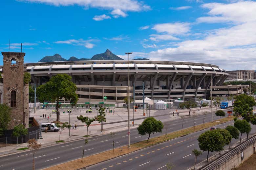
[[[18,124],[29,127],[27,113],[27,86],[24,86],[24,56],[25,53],[3,52],[3,102],[11,107],[11,122],[8,129]],[[25,87],[25,88],[24,88]],[[24,95],[24,89],[25,94]],[[24,103],[25,101],[25,103]]]

